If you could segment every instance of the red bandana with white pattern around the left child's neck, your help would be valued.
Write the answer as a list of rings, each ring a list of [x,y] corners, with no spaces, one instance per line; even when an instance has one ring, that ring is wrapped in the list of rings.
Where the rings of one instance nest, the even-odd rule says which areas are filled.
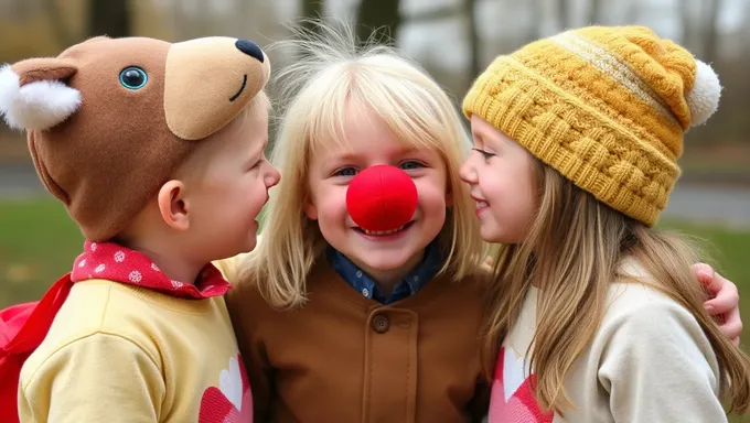
[[[159,270],[146,254],[113,242],[84,243],[84,252],[75,259],[71,280],[106,279],[148,288],[182,299],[208,299],[224,295],[232,285],[213,264],[206,264],[195,283],[174,281]]]

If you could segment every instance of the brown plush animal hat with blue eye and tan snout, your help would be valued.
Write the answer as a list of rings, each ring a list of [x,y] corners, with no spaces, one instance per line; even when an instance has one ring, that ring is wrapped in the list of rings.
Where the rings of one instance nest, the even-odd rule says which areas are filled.
[[[0,115],[25,129],[46,188],[84,236],[122,231],[197,143],[266,85],[253,42],[95,37],[0,68]]]

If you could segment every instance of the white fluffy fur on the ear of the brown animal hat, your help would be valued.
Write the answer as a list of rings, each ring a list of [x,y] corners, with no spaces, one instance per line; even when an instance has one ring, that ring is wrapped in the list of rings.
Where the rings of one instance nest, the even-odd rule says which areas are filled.
[[[12,129],[50,129],[81,106],[81,93],[58,80],[38,80],[20,86],[19,76],[0,68],[0,115]]]

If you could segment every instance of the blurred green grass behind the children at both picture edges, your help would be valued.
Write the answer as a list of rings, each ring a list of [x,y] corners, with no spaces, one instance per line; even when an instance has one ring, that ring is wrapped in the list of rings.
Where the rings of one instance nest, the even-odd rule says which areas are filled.
[[[750,322],[750,230],[671,221],[662,227],[706,240],[716,268],[740,290]],[[83,237],[61,204],[51,198],[0,202],[0,308],[38,300],[81,252]],[[746,324],[742,341],[750,341]],[[738,420],[735,420],[738,421]]]

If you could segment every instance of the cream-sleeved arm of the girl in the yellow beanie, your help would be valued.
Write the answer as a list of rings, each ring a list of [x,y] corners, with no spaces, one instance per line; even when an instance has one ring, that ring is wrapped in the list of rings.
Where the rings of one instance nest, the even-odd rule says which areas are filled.
[[[647,302],[607,319],[602,333],[599,383],[615,422],[727,421],[714,351],[685,308]]]

